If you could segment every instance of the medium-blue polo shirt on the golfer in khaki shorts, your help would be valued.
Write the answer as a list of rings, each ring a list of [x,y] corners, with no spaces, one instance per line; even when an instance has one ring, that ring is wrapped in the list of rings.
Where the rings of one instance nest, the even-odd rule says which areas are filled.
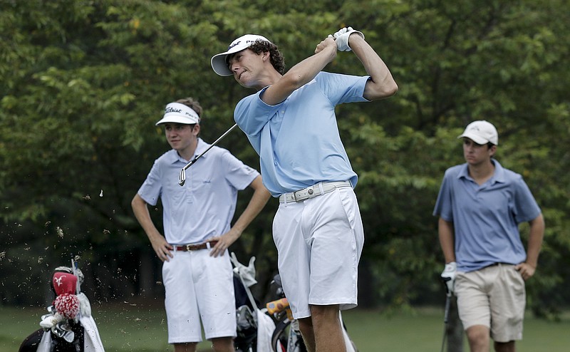
[[[483,185],[470,177],[467,164],[450,167],[437,196],[433,214],[453,223],[458,271],[527,259],[519,224],[541,210],[521,175],[492,162],[494,175]]]

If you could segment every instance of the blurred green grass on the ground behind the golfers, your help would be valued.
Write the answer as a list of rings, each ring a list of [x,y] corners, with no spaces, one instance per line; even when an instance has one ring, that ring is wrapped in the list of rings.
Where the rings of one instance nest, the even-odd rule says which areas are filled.
[[[21,341],[39,328],[44,309],[0,307],[0,352],[18,351]],[[103,346],[107,352],[173,351],[167,343],[162,306],[122,304],[93,306]],[[343,313],[348,333],[360,352],[440,351],[443,309],[418,309],[415,314],[385,316],[378,311],[353,309]],[[559,323],[527,316],[524,340],[518,352],[570,351],[570,315]],[[212,351],[209,343],[199,351]],[[465,352],[469,349],[466,347]]]

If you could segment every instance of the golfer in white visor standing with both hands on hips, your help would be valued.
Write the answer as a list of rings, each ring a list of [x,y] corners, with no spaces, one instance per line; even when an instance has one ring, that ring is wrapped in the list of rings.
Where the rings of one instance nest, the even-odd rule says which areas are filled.
[[[187,170],[184,187],[180,169],[209,145],[198,137],[202,108],[186,98],[169,103],[156,125],[164,126],[172,150],[157,160],[131,205],[152,248],[164,262],[168,342],[176,352],[196,351],[204,335],[214,351],[234,351],[236,336],[233,270],[227,248],[269,200],[259,172],[229,151],[212,147]],[[233,226],[237,192],[254,193]],[[164,236],[152,223],[147,205],[163,207]]]

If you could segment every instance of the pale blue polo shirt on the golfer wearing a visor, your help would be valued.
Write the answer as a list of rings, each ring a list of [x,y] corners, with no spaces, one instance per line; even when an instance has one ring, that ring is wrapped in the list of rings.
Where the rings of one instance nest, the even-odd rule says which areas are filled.
[[[209,147],[198,138],[195,155]],[[212,147],[186,170],[186,182],[178,185],[180,170],[188,163],[176,150],[155,160],[138,195],[150,205],[162,202],[164,234],[170,244],[203,242],[230,229],[238,190],[244,190],[257,170],[244,165],[228,150]]]

